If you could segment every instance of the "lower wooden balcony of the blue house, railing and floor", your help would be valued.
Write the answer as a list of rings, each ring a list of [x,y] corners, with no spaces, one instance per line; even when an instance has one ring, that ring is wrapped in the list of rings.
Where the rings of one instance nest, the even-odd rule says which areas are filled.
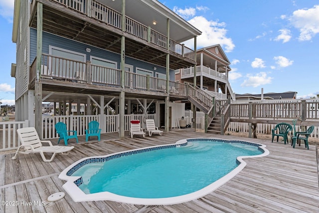
[[[185,99],[188,85],[150,75],[125,71],[125,82],[121,83],[122,70],[94,65],[91,61],[81,62],[63,57],[42,54],[41,68],[36,71],[37,58],[30,65],[29,88],[36,80],[41,81],[43,90],[74,94],[115,95],[123,89],[136,97],[160,98],[167,96]],[[121,87],[123,85],[123,87]],[[53,97],[53,96],[52,96]]]

